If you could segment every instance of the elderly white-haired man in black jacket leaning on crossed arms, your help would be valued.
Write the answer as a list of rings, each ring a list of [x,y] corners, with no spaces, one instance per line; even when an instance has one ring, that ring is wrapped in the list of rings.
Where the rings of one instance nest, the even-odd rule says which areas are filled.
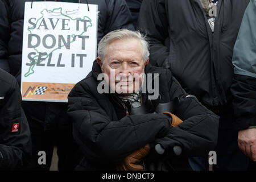
[[[177,159],[172,150],[179,146],[182,152],[178,164],[189,156],[208,155],[213,150],[217,142],[217,115],[195,96],[188,95],[168,69],[148,63],[148,45],[139,32],[110,32],[101,40],[98,55],[92,71],[68,96],[73,137],[84,156],[77,169],[148,169],[141,164],[147,157],[147,144],[152,144],[152,152],[159,144],[163,152],[156,151],[168,159]],[[150,91],[151,84],[154,92]],[[171,109],[156,112],[160,104],[175,98],[179,104],[172,113]],[[148,112],[133,114],[143,106]],[[177,120],[183,122],[172,127]],[[134,151],[137,156],[143,153],[143,158],[138,157],[141,159],[134,167],[124,164]],[[146,159],[154,158],[155,155]]]

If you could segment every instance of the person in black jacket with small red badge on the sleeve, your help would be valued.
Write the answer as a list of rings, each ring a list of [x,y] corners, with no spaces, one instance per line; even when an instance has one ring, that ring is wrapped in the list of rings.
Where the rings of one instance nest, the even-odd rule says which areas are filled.
[[[16,79],[0,68],[0,171],[20,170],[31,160],[31,138]]]

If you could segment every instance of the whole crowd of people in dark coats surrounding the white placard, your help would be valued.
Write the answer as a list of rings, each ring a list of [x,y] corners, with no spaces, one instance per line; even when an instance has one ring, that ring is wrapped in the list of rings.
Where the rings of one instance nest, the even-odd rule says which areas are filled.
[[[0,170],[255,169],[256,0],[60,0],[99,12],[68,103],[22,101],[25,2],[0,0]]]

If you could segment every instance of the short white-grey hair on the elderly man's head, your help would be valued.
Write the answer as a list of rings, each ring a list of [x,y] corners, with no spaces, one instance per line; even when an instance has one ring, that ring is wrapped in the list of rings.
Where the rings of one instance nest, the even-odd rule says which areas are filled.
[[[145,39],[145,36],[143,36],[139,31],[131,31],[127,29],[114,30],[106,34],[104,38],[101,39],[100,43],[98,44],[98,56],[101,58],[101,60],[104,61],[106,55],[106,46],[108,46],[110,42],[112,42],[114,39],[120,40],[126,38],[134,38],[141,40],[142,58],[144,62],[146,62],[150,53],[148,51],[149,47]]]

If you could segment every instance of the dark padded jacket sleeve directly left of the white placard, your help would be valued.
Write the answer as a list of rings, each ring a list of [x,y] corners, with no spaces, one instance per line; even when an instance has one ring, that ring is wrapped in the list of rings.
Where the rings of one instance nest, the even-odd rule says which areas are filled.
[[[22,64],[24,2],[0,1],[0,68],[20,77]],[[20,78],[17,78],[20,82]]]

